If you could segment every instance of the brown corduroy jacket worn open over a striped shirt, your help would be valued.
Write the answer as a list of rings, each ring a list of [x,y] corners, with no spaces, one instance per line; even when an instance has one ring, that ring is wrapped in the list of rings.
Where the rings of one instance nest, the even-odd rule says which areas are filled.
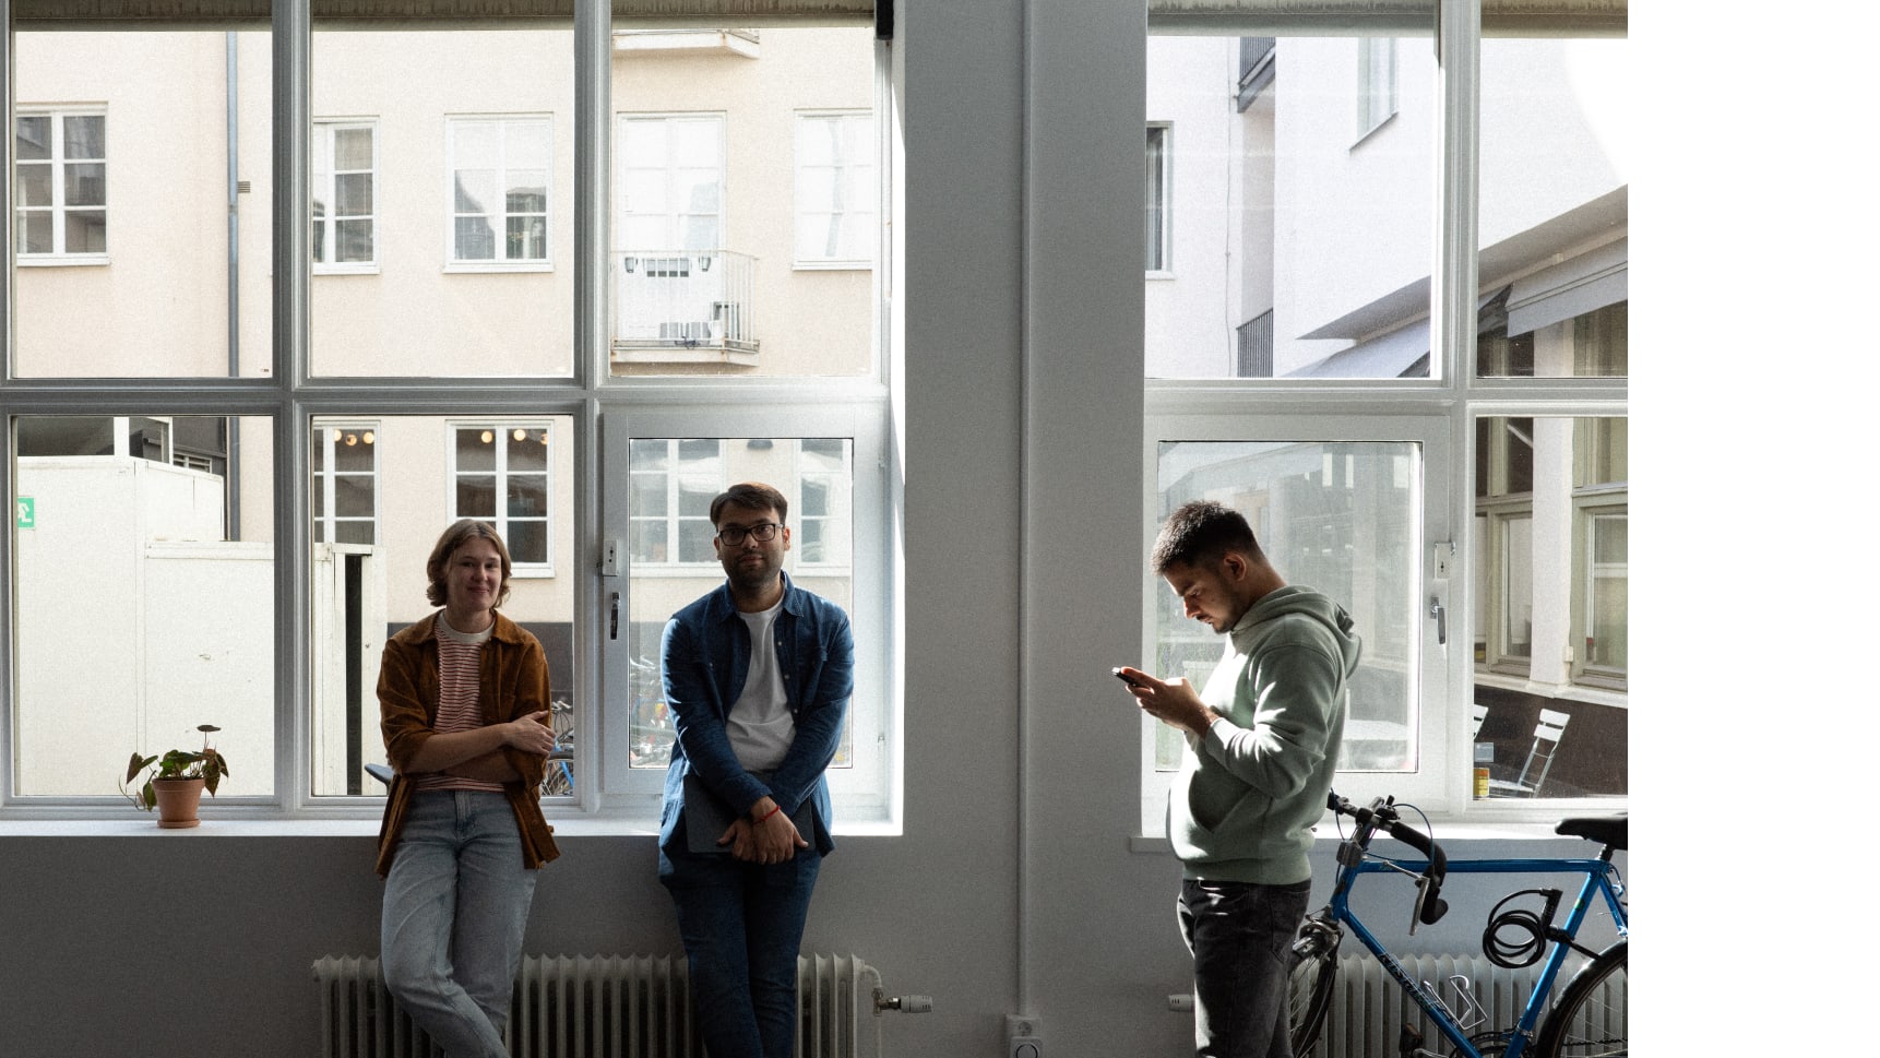
[[[523,626],[498,615],[489,643],[483,645],[479,692],[483,723],[506,723],[530,712],[549,708],[549,658],[541,643]],[[415,786],[404,778],[417,748],[431,739],[438,722],[438,615],[406,628],[385,641],[385,656],[378,669],[380,731],[385,735],[385,755],[391,770],[391,791],[385,797],[385,817],[378,827],[378,874],[391,872],[391,857],[399,849],[399,831],[412,808]],[[509,765],[521,778],[504,786],[515,808],[515,823],[523,834],[523,864],[540,868],[560,855],[555,848],[555,829],[541,816],[543,757],[504,748]]]

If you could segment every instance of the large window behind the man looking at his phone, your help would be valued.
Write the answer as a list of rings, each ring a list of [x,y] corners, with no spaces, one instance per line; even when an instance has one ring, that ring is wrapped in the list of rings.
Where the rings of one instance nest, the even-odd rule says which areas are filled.
[[[1143,241],[1167,272],[1145,282],[1147,528],[1220,498],[1282,577],[1357,616],[1340,793],[1468,810],[1480,740],[1498,799],[1622,795],[1626,41],[1480,41],[1480,173],[1444,173],[1436,148],[1472,105],[1438,62],[1457,36],[1436,49],[1361,23],[1269,38],[1250,11],[1241,38],[1149,39]],[[1158,126],[1183,135],[1158,143]],[[1166,205],[1158,154],[1181,173]],[[1444,182],[1480,210],[1466,291],[1455,261],[1433,271],[1431,239],[1468,216],[1431,212]],[[1444,348],[1433,321],[1470,312],[1451,331],[1474,342]],[[1314,428],[1280,427],[1292,415]],[[1414,438],[1408,477],[1374,470],[1391,462],[1371,453],[1397,460]],[[1472,490],[1444,485],[1470,472]],[[1386,517],[1387,481],[1404,494]],[[1213,665],[1213,637],[1188,656],[1194,628],[1167,603],[1151,616],[1169,675]],[[1521,774],[1542,708],[1572,714],[1545,782]],[[1179,752],[1145,727],[1151,832],[1156,769]]]

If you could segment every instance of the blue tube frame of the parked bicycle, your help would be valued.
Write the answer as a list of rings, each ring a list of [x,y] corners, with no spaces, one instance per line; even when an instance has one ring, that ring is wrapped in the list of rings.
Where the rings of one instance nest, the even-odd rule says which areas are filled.
[[[1436,1024],[1442,1035],[1457,1047],[1457,1050],[1468,1058],[1481,1058],[1481,1052],[1470,1043],[1465,1030],[1455,1024],[1448,1007],[1425,988],[1423,983],[1414,981],[1410,973],[1402,968],[1397,958],[1384,949],[1376,936],[1365,923],[1352,913],[1350,893],[1352,885],[1363,874],[1421,874],[1429,864],[1425,861],[1397,861],[1386,857],[1365,859],[1357,864],[1339,866],[1337,879],[1331,893],[1331,913],[1333,919],[1348,926],[1352,936],[1363,943],[1372,957],[1384,966],[1384,972],[1397,981],[1404,992],[1416,1000],[1418,1007]],[[1587,921],[1587,913],[1594,906],[1594,898],[1602,896],[1606,908],[1613,913],[1613,925],[1619,928],[1619,940],[1626,938],[1626,910],[1619,902],[1624,896],[1624,883],[1619,879],[1619,868],[1604,859],[1470,859],[1470,861],[1448,861],[1448,874],[1581,874],[1585,881],[1579,885],[1579,896],[1574,900],[1572,911],[1566,915],[1566,925],[1559,930],[1549,928],[1549,947],[1547,957],[1542,962],[1540,979],[1534,983],[1534,992],[1528,996],[1527,1007],[1521,1011],[1521,1019],[1515,1022],[1508,1035],[1508,1049],[1502,1050],[1500,1058],[1521,1058],[1521,1054],[1532,1047],[1536,1030],[1540,1028],[1542,1017],[1547,1013],[1547,1000],[1553,992],[1553,983],[1560,975],[1560,968],[1566,964],[1566,953],[1572,949],[1572,940],[1579,936],[1579,926]]]

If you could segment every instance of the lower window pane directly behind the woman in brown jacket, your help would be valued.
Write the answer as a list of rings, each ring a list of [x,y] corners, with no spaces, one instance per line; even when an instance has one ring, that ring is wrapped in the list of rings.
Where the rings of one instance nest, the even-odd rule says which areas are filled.
[[[496,434],[513,436],[517,428],[536,449],[555,453],[538,459],[526,487],[508,475],[509,447],[494,442]],[[387,637],[436,609],[425,598],[425,562],[438,536],[459,517],[489,521],[502,536],[511,558],[509,601],[502,603],[502,613],[541,641],[553,697],[568,703],[572,714],[577,705],[573,575],[553,568],[555,554],[573,547],[572,507],[566,500],[555,507],[556,496],[572,494],[573,462],[562,457],[568,445],[553,443],[572,428],[568,417],[474,425],[425,415],[316,421],[314,449],[329,449],[325,466],[359,466],[333,477],[342,517],[325,536],[335,543],[318,543],[316,536],[312,558],[316,795],[384,795],[385,787],[363,770],[385,759],[376,695],[380,656]],[[481,440],[485,430],[491,434],[487,443]],[[541,443],[543,434],[549,445]],[[487,457],[487,472],[461,474],[466,455],[478,451]],[[459,475],[449,483],[453,464]],[[318,474],[314,485],[318,492]],[[528,496],[536,517],[519,519],[509,511],[498,517],[496,496],[511,489]],[[558,725],[562,720],[556,716]],[[572,748],[572,739],[566,744]]]

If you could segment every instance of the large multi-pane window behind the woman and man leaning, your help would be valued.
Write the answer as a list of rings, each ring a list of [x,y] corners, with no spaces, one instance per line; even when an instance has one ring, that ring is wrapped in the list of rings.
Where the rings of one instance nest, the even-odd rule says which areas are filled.
[[[122,812],[132,750],[214,723],[233,765],[218,812],[372,817],[378,660],[434,609],[438,534],[474,517],[513,560],[504,613],[549,656],[555,810],[650,827],[666,759],[632,737],[641,707],[658,712],[641,656],[662,607],[722,581],[703,504],[761,474],[793,500],[793,575],[861,611],[838,825],[899,827],[869,267],[887,220],[882,47],[859,24],[780,24],[761,47],[705,34],[673,54],[673,36],[622,23],[583,41],[607,58],[579,79],[588,30],[421,19],[310,26],[282,71],[308,107],[278,130],[265,28],[13,36],[17,98],[39,101],[8,113],[23,263],[41,246],[103,263],[103,115],[111,254],[9,271],[0,810]],[[735,152],[728,128],[744,130]],[[797,147],[816,192],[801,212]],[[797,269],[805,216],[827,254]],[[628,256],[635,280],[694,286],[652,304],[622,280]],[[615,321],[641,310],[650,335],[628,350]],[[175,408],[124,408],[122,378],[143,374]],[[291,573],[286,554],[303,556]],[[81,673],[70,643],[98,599],[141,641]],[[79,714],[111,729],[85,740],[96,761],[71,757]]]

